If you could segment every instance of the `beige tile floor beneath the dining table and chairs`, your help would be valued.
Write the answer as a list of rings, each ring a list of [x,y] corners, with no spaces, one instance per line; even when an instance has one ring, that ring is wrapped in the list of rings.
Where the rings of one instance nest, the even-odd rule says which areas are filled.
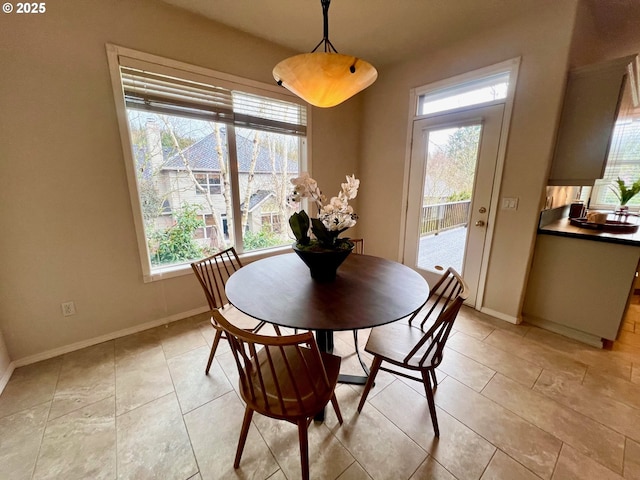
[[[624,329],[597,350],[463,308],[438,371],[440,439],[420,385],[381,372],[361,414],[361,387],[339,385],[344,424],[328,409],[310,426],[311,478],[640,479],[640,305]],[[261,416],[234,471],[243,405],[227,345],[203,373],[212,338],[201,315],[17,369],[0,478],[299,478],[295,427]],[[336,351],[358,372],[350,332]]]

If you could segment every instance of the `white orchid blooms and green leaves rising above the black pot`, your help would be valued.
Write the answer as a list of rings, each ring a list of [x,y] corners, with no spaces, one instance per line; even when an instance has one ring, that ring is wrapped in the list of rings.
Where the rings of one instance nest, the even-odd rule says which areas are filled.
[[[353,227],[358,215],[353,212],[349,200],[356,198],[360,180],[355,175],[347,176],[347,182],[342,183],[342,190],[337,197],[327,202],[326,197],[318,188],[318,183],[303,172],[299,177],[291,180],[294,185],[290,202],[298,203],[303,198],[309,198],[318,207],[318,217],[309,219],[304,210],[296,212],[289,218],[289,225],[296,237],[296,246],[305,250],[351,250],[353,243],[348,238],[338,238],[346,229]],[[309,235],[309,228],[315,236]]]

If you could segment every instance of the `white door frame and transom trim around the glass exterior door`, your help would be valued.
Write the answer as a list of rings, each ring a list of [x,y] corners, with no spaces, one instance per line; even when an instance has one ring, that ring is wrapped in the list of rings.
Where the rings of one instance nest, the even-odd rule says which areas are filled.
[[[422,118],[427,118],[429,115],[418,115],[418,98],[420,95],[428,93],[433,90],[440,90],[446,87],[450,87],[459,83],[469,82],[475,78],[485,77],[492,73],[499,73],[508,70],[510,72],[509,77],[509,89],[507,91],[507,97],[503,100],[486,103],[484,105],[494,105],[497,103],[504,104],[504,113],[502,121],[502,130],[500,132],[500,143],[498,146],[498,158],[496,162],[496,171],[493,181],[494,195],[491,198],[491,204],[489,208],[489,217],[487,219],[488,228],[487,235],[485,237],[485,248],[482,254],[482,263],[480,268],[480,281],[478,283],[478,293],[476,296],[475,305],[471,305],[476,310],[481,310],[484,303],[484,290],[487,280],[487,271],[489,264],[489,257],[491,255],[491,245],[493,243],[493,232],[495,227],[496,215],[498,212],[500,186],[502,184],[502,173],[504,170],[504,161],[507,151],[507,139],[509,133],[509,127],[511,125],[511,115],[513,113],[513,100],[515,97],[515,88],[518,80],[518,69],[520,67],[520,57],[513,58],[495,65],[491,65],[485,68],[467,72],[455,77],[447,78],[434,82],[428,85],[412,88],[409,95],[409,119],[407,121],[407,139],[405,146],[405,161],[404,161],[404,174],[402,180],[402,211],[400,214],[400,242],[398,245],[398,259],[404,262],[404,245],[407,232],[407,208],[409,206],[409,170],[411,167],[411,141],[413,136],[413,122]],[[474,105],[467,108],[477,108],[480,105]],[[465,108],[459,109],[464,110]],[[450,110],[449,112],[455,112],[456,110]],[[442,114],[442,112],[439,112]],[[437,115],[437,114],[436,114]]]

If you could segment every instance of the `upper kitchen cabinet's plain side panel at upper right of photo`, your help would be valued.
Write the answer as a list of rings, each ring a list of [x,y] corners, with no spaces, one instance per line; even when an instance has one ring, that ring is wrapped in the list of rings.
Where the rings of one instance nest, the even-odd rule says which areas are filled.
[[[593,185],[602,178],[633,58],[569,74],[549,185]]]

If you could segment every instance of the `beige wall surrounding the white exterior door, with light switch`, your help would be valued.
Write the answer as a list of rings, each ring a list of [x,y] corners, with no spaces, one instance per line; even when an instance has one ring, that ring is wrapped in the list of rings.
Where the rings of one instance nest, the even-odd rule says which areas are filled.
[[[517,318],[543,205],[569,57],[576,2],[461,39],[448,48],[384,69],[367,91],[360,199],[367,251],[396,259],[407,142],[409,90],[510,58],[522,57],[502,178],[501,197],[518,210],[499,211],[483,308]],[[370,220],[374,220],[371,222]]]

